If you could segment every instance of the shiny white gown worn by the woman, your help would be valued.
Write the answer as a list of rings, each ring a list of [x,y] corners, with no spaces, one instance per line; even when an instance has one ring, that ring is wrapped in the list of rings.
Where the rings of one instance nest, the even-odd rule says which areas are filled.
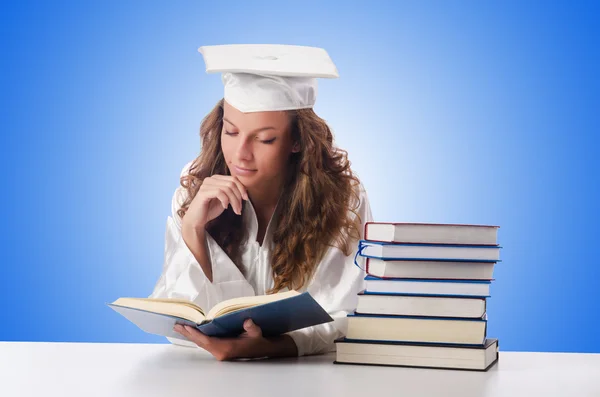
[[[188,163],[182,171],[189,169]],[[263,245],[256,237],[258,221],[250,201],[244,201],[243,225],[248,228],[248,240],[241,250],[241,266],[247,278],[231,258],[206,233],[208,255],[212,264],[212,283],[205,276],[196,258],[181,236],[181,218],[177,210],[185,200],[187,191],[178,187],[173,195],[171,212],[167,218],[165,233],[165,252],[162,274],[150,295],[151,298],[178,298],[193,301],[208,310],[217,303],[241,296],[264,295],[273,286],[269,252],[271,222],[267,226]],[[361,238],[365,222],[372,221],[371,208],[366,191],[360,185]],[[319,263],[311,281],[299,292],[308,291],[311,296],[329,313],[333,322],[289,332],[298,349],[298,355],[326,353],[335,350],[335,339],[346,334],[346,315],[352,313],[357,304],[357,293],[364,289],[365,273],[354,264],[358,241],[352,241],[353,252],[349,256],[334,247],[330,247]],[[360,264],[360,262],[359,262]],[[361,264],[361,267],[362,266]],[[196,346],[187,341],[167,338],[171,343]]]

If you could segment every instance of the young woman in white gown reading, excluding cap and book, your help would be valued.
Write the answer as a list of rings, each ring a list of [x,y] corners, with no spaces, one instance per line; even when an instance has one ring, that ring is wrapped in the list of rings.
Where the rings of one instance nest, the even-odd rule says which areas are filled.
[[[226,87],[235,78],[226,75]],[[310,106],[314,98],[264,111],[275,107],[241,111],[239,99],[226,90],[202,121],[201,153],[184,167],[173,195],[163,272],[151,297],[210,308],[234,297],[309,291],[334,322],[276,338],[263,337],[251,320],[237,338],[179,325],[175,331],[218,360],[331,351],[363,288],[354,257],[372,220],[366,192]]]

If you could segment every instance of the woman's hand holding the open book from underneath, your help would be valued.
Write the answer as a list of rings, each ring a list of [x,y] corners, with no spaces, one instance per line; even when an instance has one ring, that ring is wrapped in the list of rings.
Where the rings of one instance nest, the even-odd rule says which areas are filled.
[[[208,351],[217,360],[232,360],[236,358],[259,358],[271,355],[281,355],[278,351],[278,344],[262,336],[262,330],[252,320],[244,322],[245,332],[237,338],[217,338],[206,336],[194,327],[175,325],[175,332],[185,336],[188,340],[194,342],[199,347]],[[287,337],[291,340],[290,337]],[[289,341],[287,341],[289,346]],[[293,340],[291,340],[293,344]],[[295,344],[294,344],[295,348]],[[288,355],[293,355],[289,352]]]

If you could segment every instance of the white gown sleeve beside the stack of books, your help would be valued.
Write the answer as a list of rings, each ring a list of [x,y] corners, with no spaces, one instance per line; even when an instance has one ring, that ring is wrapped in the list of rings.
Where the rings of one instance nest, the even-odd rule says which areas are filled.
[[[373,221],[369,200],[363,186],[360,185],[360,203],[357,214],[360,216],[360,238],[363,238],[364,225]],[[307,291],[329,313],[333,322],[307,327],[289,332],[298,349],[298,355],[327,353],[335,350],[334,341],[346,335],[346,316],[356,309],[357,294],[364,290],[364,264],[354,258],[358,250],[358,240],[351,241],[354,247],[349,256],[331,247],[319,264]]]

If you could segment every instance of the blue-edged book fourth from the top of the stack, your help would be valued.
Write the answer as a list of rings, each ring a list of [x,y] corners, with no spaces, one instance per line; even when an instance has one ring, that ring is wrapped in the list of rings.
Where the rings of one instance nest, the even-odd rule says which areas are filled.
[[[367,292],[415,295],[490,296],[490,281],[432,280],[432,279],[383,279],[365,277]]]

